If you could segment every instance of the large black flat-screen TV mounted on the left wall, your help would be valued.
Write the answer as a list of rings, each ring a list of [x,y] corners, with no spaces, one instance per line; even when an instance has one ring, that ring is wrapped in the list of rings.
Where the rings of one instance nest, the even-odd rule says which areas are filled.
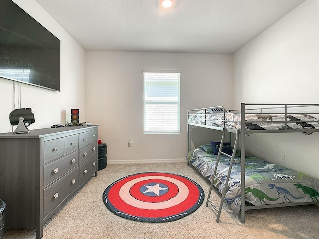
[[[11,0],[0,25],[0,77],[60,91],[60,40]]]

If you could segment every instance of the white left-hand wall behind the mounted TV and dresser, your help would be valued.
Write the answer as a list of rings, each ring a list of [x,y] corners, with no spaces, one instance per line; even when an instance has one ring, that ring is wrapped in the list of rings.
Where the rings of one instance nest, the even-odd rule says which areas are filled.
[[[35,123],[28,128],[31,130],[65,124],[66,112],[70,114],[71,108],[79,108],[80,121],[85,121],[85,51],[35,0],[14,2],[61,41],[61,91],[21,83],[21,108],[31,107],[35,117]],[[18,108],[18,83],[15,86],[15,108]],[[1,133],[10,131],[12,89],[13,81],[0,78]]]

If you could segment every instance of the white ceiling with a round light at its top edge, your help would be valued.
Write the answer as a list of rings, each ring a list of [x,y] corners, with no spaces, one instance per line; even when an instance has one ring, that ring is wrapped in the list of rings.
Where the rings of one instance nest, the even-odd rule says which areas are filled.
[[[232,54],[304,0],[36,0],[85,50]]]

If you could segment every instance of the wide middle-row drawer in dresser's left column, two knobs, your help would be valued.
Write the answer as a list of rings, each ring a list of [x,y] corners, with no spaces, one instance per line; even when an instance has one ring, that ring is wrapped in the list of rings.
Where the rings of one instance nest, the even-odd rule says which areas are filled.
[[[79,154],[73,152],[47,165],[44,165],[44,187],[79,165]]]

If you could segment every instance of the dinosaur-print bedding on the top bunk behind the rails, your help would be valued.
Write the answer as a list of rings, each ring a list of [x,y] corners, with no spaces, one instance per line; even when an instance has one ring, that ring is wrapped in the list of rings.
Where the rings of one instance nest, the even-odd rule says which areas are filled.
[[[190,114],[189,123],[204,124],[215,127],[225,127],[240,129],[241,114],[205,114],[205,110],[200,110],[196,114]],[[287,115],[287,129],[319,129],[319,119],[307,114]],[[285,129],[284,114],[246,114],[247,130],[277,130]],[[300,121],[300,122],[295,122]]]

